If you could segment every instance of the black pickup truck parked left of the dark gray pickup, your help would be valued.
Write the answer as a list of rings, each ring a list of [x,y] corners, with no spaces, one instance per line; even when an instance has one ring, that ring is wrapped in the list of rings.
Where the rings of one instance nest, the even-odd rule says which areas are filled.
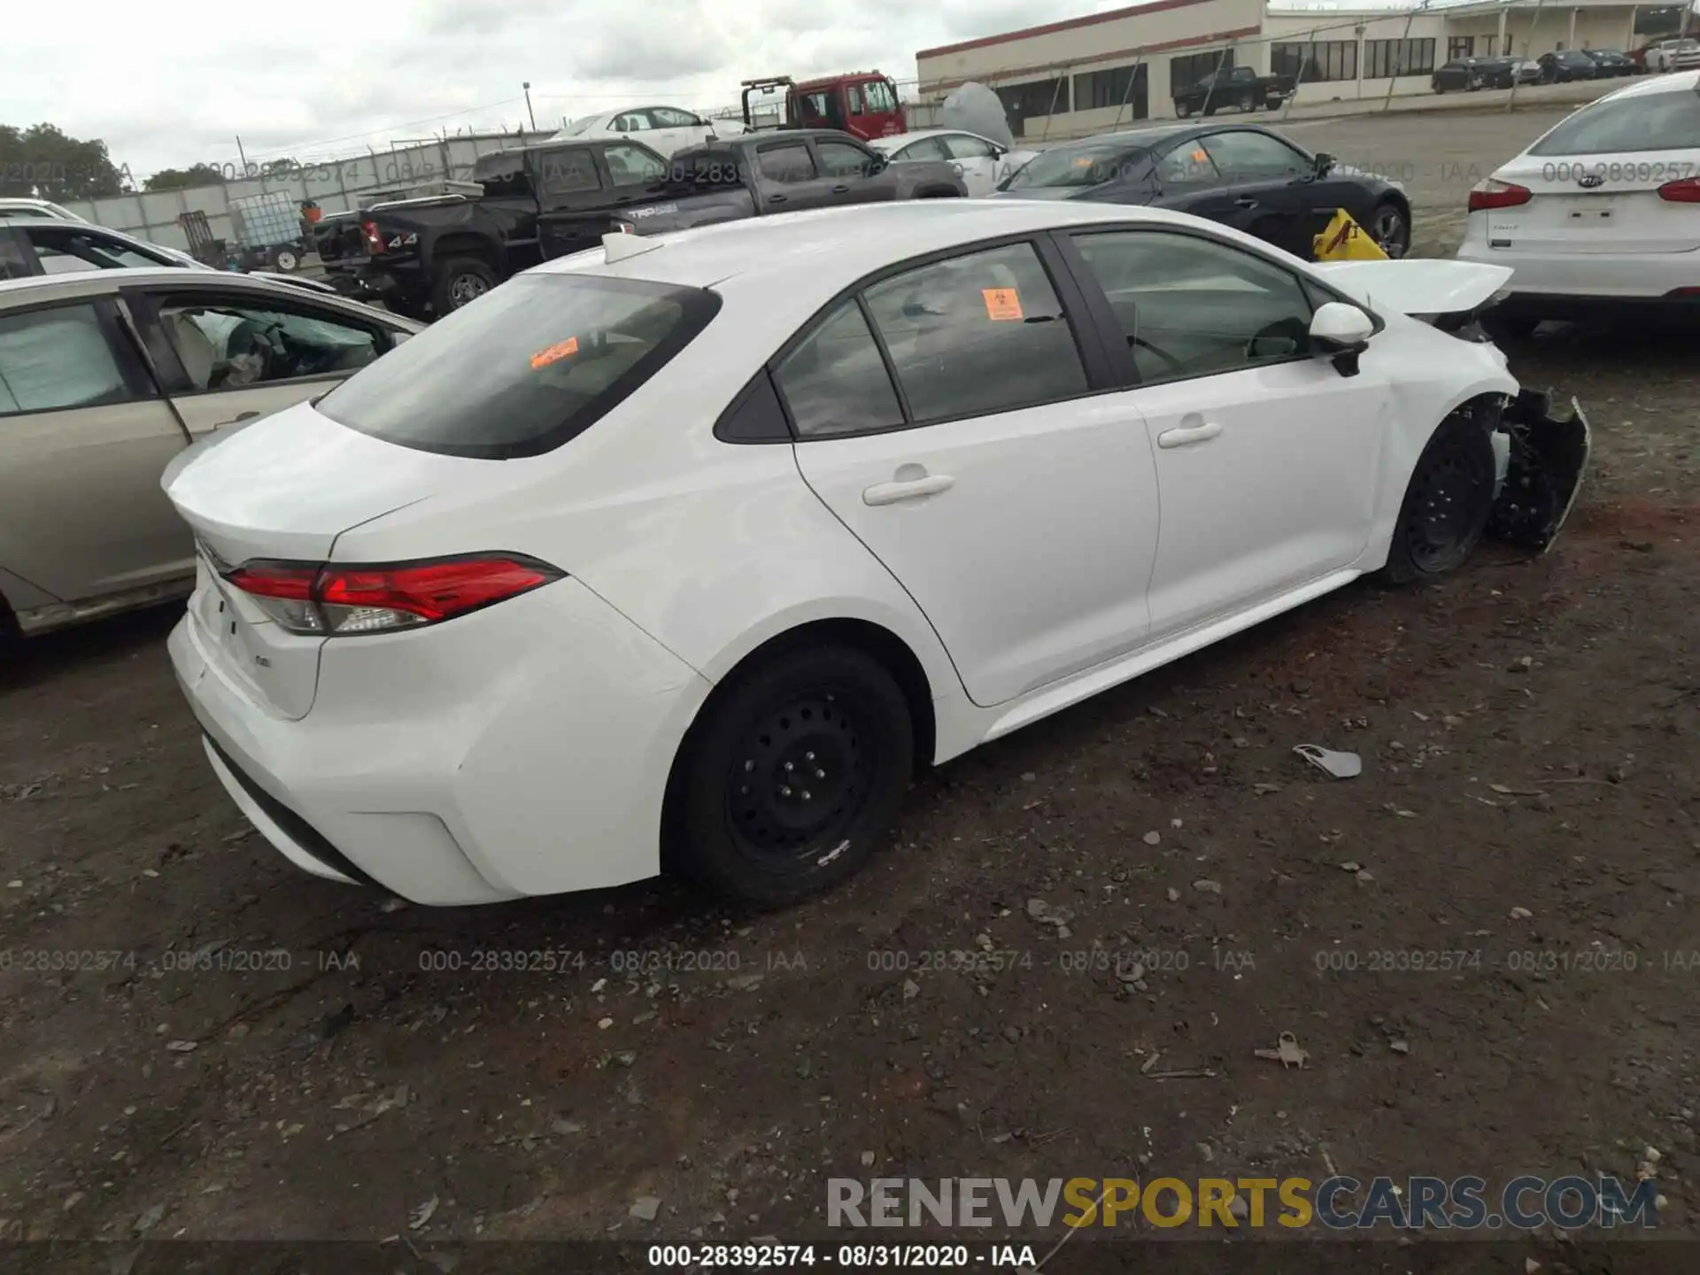
[[[464,306],[542,260],[539,221],[568,214],[610,230],[627,204],[649,201],[668,163],[638,141],[542,143],[478,156],[481,196],[408,199],[360,209],[318,235],[338,292],[427,318]],[[559,240],[559,231],[556,231]]]

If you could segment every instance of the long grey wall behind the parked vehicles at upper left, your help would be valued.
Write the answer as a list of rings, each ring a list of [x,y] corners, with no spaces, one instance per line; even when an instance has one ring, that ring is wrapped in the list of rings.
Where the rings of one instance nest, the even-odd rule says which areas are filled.
[[[393,189],[398,185],[423,185],[444,178],[466,180],[473,162],[495,150],[517,146],[524,139],[542,141],[547,133],[479,134],[447,138],[444,141],[376,151],[350,160],[326,160],[320,165],[303,165],[282,177],[255,177],[228,180],[221,185],[199,185],[189,190],[156,190],[112,199],[63,201],[65,207],[94,221],[97,226],[121,230],[150,243],[168,248],[189,248],[189,236],[177,224],[180,212],[201,211],[207,216],[212,235],[223,240],[235,236],[230,201],[284,190],[294,199],[314,199],[326,212],[350,212],[362,202],[362,192]]]

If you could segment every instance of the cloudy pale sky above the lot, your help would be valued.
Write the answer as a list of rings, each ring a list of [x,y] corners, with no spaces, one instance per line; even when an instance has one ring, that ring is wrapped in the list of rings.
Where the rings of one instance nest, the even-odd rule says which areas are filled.
[[[646,100],[712,109],[738,82],[879,66],[1129,0],[382,0],[308,7],[34,3],[0,42],[0,122],[104,138],[138,177],[321,160],[447,128],[539,126]],[[267,14],[287,15],[267,20]],[[107,20],[110,19],[110,20]]]

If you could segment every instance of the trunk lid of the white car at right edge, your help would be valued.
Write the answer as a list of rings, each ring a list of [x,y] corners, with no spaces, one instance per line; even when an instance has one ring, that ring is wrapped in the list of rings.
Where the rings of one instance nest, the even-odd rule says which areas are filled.
[[[1530,192],[1488,209],[1488,246],[1545,253],[1678,253],[1700,248],[1700,209],[1659,187],[1700,172],[1700,150],[1523,155],[1494,177]]]

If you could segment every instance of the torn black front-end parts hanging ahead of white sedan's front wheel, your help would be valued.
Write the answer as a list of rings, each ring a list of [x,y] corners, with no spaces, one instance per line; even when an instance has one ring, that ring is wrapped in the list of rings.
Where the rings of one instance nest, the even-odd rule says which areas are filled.
[[[1552,415],[1552,396],[1518,391],[1499,411],[1498,432],[1510,440],[1504,476],[1494,493],[1488,534],[1523,549],[1545,549],[1576,507],[1593,445],[1583,405]]]

